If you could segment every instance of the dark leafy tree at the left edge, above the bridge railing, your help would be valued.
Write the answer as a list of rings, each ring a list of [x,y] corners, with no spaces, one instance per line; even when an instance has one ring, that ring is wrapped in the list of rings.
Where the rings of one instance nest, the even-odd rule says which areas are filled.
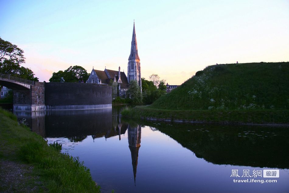
[[[25,63],[24,51],[0,37],[0,73],[10,74],[26,80],[38,81],[30,68],[20,66]]]

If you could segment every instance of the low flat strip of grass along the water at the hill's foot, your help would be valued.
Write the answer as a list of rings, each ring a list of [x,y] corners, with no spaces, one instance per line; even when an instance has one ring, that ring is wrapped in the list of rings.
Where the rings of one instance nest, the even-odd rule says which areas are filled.
[[[176,122],[289,124],[288,110],[168,110],[138,106],[126,108],[121,114],[125,118]]]

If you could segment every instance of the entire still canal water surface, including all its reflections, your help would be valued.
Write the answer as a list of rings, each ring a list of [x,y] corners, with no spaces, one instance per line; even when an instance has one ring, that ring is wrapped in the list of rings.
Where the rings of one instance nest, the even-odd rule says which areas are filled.
[[[14,114],[79,156],[102,192],[289,192],[288,127],[137,121],[120,111]],[[266,169],[279,177],[264,178]],[[246,179],[259,182],[233,181]]]

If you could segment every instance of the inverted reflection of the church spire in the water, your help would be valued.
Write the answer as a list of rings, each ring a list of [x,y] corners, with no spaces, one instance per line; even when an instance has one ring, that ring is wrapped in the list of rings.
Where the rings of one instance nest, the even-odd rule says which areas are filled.
[[[141,126],[138,125],[137,127],[131,127],[130,125],[128,125],[127,129],[128,147],[131,150],[131,163],[134,172],[135,185],[135,177],[138,167],[138,150],[141,147]]]

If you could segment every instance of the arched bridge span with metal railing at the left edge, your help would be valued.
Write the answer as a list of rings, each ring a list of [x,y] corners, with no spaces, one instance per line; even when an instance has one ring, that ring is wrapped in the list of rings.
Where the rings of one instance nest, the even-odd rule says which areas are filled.
[[[31,89],[31,86],[35,85],[35,82],[7,74],[0,74],[0,85],[6,86],[12,90],[26,90]]]

